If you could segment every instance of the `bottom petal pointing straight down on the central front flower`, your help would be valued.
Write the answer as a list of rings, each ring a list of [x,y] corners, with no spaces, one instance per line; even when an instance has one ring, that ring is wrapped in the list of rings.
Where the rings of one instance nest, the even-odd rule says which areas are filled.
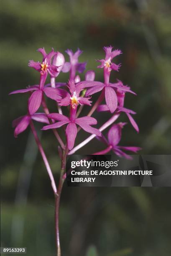
[[[71,150],[74,147],[76,136],[77,136],[77,125],[75,123],[69,123],[66,127],[67,146],[69,150]]]

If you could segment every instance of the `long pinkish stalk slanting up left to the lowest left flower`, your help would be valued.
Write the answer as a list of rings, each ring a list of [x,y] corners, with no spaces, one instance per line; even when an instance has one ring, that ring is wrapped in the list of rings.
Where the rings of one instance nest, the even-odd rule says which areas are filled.
[[[53,176],[53,174],[51,172],[51,167],[50,167],[50,165],[48,163],[48,160],[46,158],[45,152],[44,152],[43,147],[41,145],[41,141],[38,138],[38,135],[37,135],[37,132],[36,132],[36,129],[35,129],[34,125],[33,125],[33,121],[32,120],[30,122],[30,127],[31,127],[31,131],[33,133],[33,136],[35,138],[35,141],[37,143],[38,149],[39,149],[39,151],[41,153],[41,156],[43,158],[44,164],[46,166],[46,169],[47,169],[47,172],[48,172],[48,176],[49,176],[49,178],[51,180],[52,189],[54,191],[54,194],[56,194],[57,193],[57,189],[56,189],[56,184],[55,184],[55,181],[54,181],[54,176]]]

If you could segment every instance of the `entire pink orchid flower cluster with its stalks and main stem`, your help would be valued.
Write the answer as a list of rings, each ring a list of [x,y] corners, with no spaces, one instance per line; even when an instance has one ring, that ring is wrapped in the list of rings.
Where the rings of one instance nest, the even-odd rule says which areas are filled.
[[[65,61],[64,55],[59,51],[51,50],[50,53],[46,54],[44,48],[38,49],[42,54],[43,59],[41,62],[29,61],[28,66],[35,69],[40,74],[39,84],[30,86],[26,89],[16,90],[10,94],[16,93],[29,93],[28,98],[28,111],[27,114],[21,116],[13,121],[14,136],[17,137],[20,133],[26,130],[30,125],[31,131],[35,137],[36,143],[40,150],[41,156],[45,163],[48,175],[51,179],[51,185],[56,196],[56,216],[59,212],[59,198],[61,194],[61,187],[66,177],[65,166],[66,166],[66,155],[74,154],[79,148],[82,148],[85,144],[91,141],[93,138],[97,138],[104,143],[104,150],[96,152],[94,154],[106,154],[113,151],[118,156],[124,156],[130,159],[130,156],[124,151],[137,152],[140,150],[136,146],[120,146],[122,129],[126,123],[115,123],[113,124],[121,113],[125,113],[130,121],[133,128],[138,132],[138,125],[133,119],[132,115],[135,114],[133,110],[124,107],[124,100],[126,93],[135,92],[130,90],[130,87],[124,85],[123,82],[117,79],[115,83],[110,82],[110,74],[112,71],[118,72],[121,64],[115,64],[112,60],[122,54],[120,50],[113,50],[112,46],[104,47],[105,59],[97,60],[100,65],[97,68],[103,69],[104,82],[95,81],[95,72],[89,70],[85,73],[84,81],[81,81],[78,73],[84,72],[86,68],[86,62],[79,62],[79,56],[82,54],[81,50],[77,50],[75,53],[71,50],[66,50],[69,55],[69,62]],[[69,81],[56,82],[56,78],[60,72],[69,72]],[[46,79],[50,76],[50,83],[46,83]],[[98,100],[93,104],[92,95],[100,93]],[[57,113],[49,113],[46,105],[46,97],[54,100],[57,106]],[[102,102],[104,104],[101,104]],[[84,106],[87,105],[89,112],[87,116],[79,117]],[[39,108],[43,108],[43,113],[37,112]],[[63,115],[63,108],[69,109],[69,114]],[[92,125],[97,125],[97,120],[92,117],[94,111],[97,112],[110,112],[111,118],[105,122],[100,128],[95,128]],[[56,188],[56,182],[51,172],[50,165],[46,158],[45,152],[41,145],[41,141],[38,138],[36,129],[34,128],[33,120],[44,123],[42,130],[52,129],[56,139],[59,142],[59,156],[61,157],[61,178],[59,181],[59,187]],[[107,127],[110,125],[111,128],[108,131],[107,138],[102,134]],[[58,129],[63,129],[65,133],[66,141],[63,142],[59,136]],[[75,145],[75,140],[80,129],[84,130],[91,135]],[[60,244],[59,244],[59,227],[58,227],[58,216],[56,217],[56,246],[58,254],[60,255]]]

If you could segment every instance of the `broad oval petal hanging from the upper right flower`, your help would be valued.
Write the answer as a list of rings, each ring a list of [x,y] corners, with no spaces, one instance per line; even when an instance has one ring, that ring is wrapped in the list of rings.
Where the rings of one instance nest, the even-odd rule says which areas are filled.
[[[105,87],[105,100],[110,112],[113,113],[117,108],[117,95],[110,86]]]

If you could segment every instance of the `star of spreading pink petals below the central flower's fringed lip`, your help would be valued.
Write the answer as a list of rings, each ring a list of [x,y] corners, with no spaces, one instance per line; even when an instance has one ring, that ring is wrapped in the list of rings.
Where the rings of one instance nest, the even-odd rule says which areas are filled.
[[[91,125],[96,125],[97,120],[92,117],[81,117],[81,118],[70,118],[66,117],[65,115],[61,115],[58,113],[52,113],[48,115],[48,118],[52,118],[59,122],[46,125],[42,128],[42,130],[54,129],[59,128],[65,124],[68,124],[66,127],[66,138],[67,138],[67,147],[71,150],[74,147],[75,139],[77,136],[77,125],[79,125],[84,131],[88,133],[96,134],[97,136],[101,136],[101,132],[93,128]],[[77,125],[76,125],[77,124]]]

